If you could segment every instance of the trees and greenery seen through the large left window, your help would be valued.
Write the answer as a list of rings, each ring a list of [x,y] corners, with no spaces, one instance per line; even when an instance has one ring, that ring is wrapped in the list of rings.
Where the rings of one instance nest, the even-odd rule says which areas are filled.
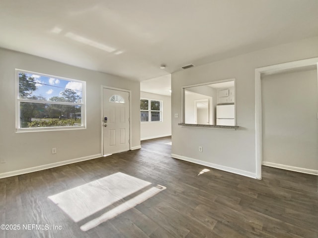
[[[79,104],[81,96],[79,91],[63,88],[59,96],[53,96],[48,100],[34,92],[42,87],[44,83],[37,81],[31,74],[19,72],[18,98],[20,102],[20,127],[52,127],[52,126],[74,126],[81,124],[81,106],[63,105],[52,102],[66,102]],[[37,76],[37,75],[36,75]],[[37,76],[38,77],[38,76]],[[62,80],[61,80],[62,81]],[[48,85],[48,88],[57,86]],[[58,87],[57,87],[58,88]],[[51,89],[53,91],[53,89]],[[81,91],[80,91],[81,93]],[[27,101],[30,100],[30,102]],[[36,102],[35,102],[36,101]]]

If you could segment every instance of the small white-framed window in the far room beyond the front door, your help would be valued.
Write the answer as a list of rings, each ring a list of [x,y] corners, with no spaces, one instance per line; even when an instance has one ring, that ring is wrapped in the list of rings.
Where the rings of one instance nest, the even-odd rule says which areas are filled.
[[[162,121],[162,101],[141,99],[140,121]]]

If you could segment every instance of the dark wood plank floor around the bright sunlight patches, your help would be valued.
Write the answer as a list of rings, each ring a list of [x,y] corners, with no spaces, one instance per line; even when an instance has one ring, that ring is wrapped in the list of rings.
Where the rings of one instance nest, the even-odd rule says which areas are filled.
[[[0,238],[318,238],[317,176],[263,167],[262,180],[250,179],[172,159],[169,141],[0,179],[0,224],[51,229],[0,230]],[[48,199],[117,172],[166,189],[87,232]]]

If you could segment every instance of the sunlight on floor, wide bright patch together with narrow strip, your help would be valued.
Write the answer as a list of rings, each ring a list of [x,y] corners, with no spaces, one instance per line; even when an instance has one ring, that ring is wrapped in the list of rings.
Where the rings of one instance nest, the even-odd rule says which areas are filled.
[[[164,186],[158,185],[138,194],[138,191],[151,184],[151,182],[124,173],[115,173],[48,198],[58,205],[74,222],[79,222],[90,216],[93,217],[96,212],[136,193],[133,198],[98,217],[93,217],[91,221],[80,227],[82,231],[87,231],[133,208],[165,189]]]

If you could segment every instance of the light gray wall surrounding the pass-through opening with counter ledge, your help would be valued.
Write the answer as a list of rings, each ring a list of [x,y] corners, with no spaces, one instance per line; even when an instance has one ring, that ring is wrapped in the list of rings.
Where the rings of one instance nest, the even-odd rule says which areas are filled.
[[[181,115],[181,87],[236,78],[239,129],[179,126],[172,117],[172,157],[256,178],[255,68],[318,57],[318,37],[263,49],[172,73],[172,115]],[[198,147],[203,147],[199,152]]]

